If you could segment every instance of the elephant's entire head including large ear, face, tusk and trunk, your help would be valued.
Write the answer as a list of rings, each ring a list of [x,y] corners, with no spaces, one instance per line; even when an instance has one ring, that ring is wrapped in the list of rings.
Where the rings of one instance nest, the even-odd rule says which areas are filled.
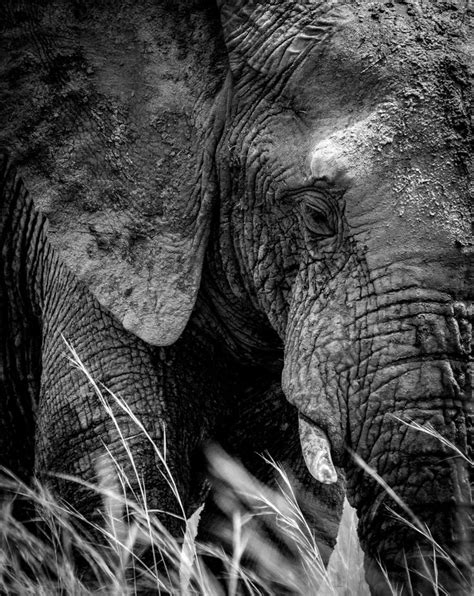
[[[405,424],[467,451],[462,9],[172,4],[4,9],[3,144],[51,242],[145,342],[173,344],[194,308],[242,362],[278,369],[283,350],[303,454],[320,482],[345,470],[373,592],[380,559],[429,593],[429,544],[351,451],[426,523],[455,563],[438,561],[440,583],[462,593],[467,466]]]

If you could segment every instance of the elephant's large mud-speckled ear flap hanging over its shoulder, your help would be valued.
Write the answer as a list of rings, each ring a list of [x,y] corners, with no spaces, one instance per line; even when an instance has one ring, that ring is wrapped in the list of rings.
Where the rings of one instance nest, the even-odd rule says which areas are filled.
[[[173,343],[194,305],[227,70],[207,3],[0,7],[0,145],[49,239],[124,327]]]

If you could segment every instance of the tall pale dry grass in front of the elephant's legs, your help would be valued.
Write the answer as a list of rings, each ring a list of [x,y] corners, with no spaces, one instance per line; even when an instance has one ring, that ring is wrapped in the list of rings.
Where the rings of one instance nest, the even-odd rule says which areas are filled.
[[[111,403],[126,412],[153,444],[184,520],[184,508],[166,464],[166,442],[162,446],[154,444],[127,404],[95,383],[79,356],[68,347],[71,363],[87,376],[119,435],[123,436],[122,429],[113,416]],[[184,520],[186,534],[179,539],[170,535],[150,512],[133,454],[125,439],[123,444],[131,469],[135,470],[133,482],[104,448],[104,456],[96,464],[97,483],[87,485],[101,495],[101,523],[86,520],[44,486],[28,487],[3,471],[1,483],[7,498],[0,511],[0,593],[126,596],[150,590],[154,594],[237,596],[244,587],[251,595],[369,593],[363,578],[357,520],[347,504],[338,545],[326,569],[283,470],[274,461],[267,462],[279,476],[280,485],[278,491],[270,490],[215,447],[209,450],[208,461],[218,480],[218,505],[227,521],[219,528],[218,542],[202,544],[196,540],[197,513]],[[375,474],[370,469],[368,473]],[[134,498],[126,498],[132,485]],[[34,506],[34,529],[13,516],[14,503],[20,499]],[[429,536],[409,510],[406,523]],[[276,540],[268,539],[269,530]],[[433,547],[439,549],[435,543]],[[223,582],[210,571],[209,557],[219,560],[225,571]]]

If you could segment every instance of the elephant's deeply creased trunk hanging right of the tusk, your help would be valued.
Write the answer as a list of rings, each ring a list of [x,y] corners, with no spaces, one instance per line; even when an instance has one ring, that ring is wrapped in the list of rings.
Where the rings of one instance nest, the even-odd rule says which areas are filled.
[[[392,584],[411,584],[415,593],[438,593],[438,585],[465,594],[471,585],[471,497],[460,454],[467,453],[472,391],[466,308],[438,297],[391,304],[376,318],[375,336],[369,326],[358,342],[367,368],[349,389],[347,436],[400,501],[367,469],[348,463],[367,578],[373,594],[387,593],[380,561]]]

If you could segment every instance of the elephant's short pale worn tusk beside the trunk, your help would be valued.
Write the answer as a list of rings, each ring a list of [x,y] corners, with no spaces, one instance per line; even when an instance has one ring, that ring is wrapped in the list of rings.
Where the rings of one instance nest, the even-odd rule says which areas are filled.
[[[331,447],[326,433],[301,416],[299,431],[304,461],[310,474],[323,484],[337,482],[337,472],[332,463]]]

